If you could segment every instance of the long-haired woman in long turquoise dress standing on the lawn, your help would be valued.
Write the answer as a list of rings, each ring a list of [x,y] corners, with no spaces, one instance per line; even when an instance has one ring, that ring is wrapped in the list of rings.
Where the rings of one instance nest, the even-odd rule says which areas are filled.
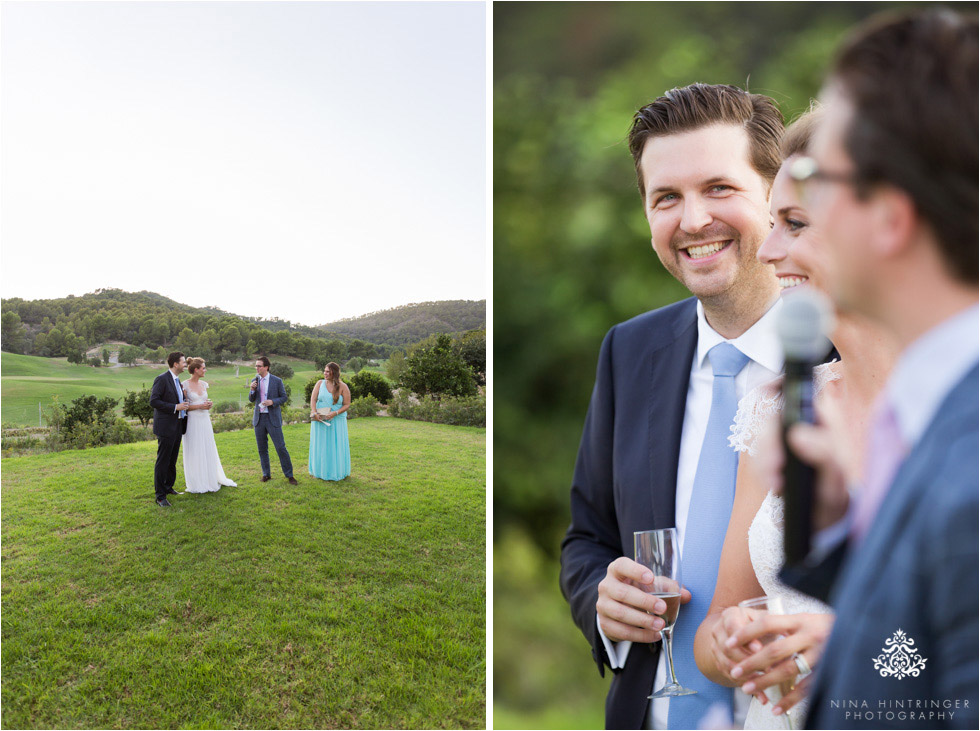
[[[323,380],[310,395],[310,474],[321,480],[342,480],[350,474],[347,409],[350,388],[340,380],[340,366],[327,363]]]

